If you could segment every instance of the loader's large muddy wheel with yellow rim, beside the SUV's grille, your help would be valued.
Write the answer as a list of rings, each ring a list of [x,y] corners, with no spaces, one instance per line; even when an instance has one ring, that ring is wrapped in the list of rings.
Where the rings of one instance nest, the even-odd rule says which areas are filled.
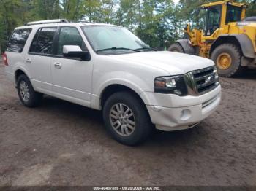
[[[222,55],[227,55],[230,59],[230,64],[227,64],[227,68],[222,66],[219,60],[221,60]],[[211,54],[211,60],[217,66],[219,76],[221,77],[233,77],[238,75],[241,70],[241,50],[234,44],[222,44]]]

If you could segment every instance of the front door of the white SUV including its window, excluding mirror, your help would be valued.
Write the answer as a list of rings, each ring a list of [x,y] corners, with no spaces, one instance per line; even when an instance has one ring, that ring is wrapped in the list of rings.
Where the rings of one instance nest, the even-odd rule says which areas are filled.
[[[63,98],[84,106],[91,103],[92,61],[80,58],[64,58],[64,45],[78,45],[86,50],[86,45],[77,28],[61,27],[56,39],[56,57],[51,60],[53,92]]]

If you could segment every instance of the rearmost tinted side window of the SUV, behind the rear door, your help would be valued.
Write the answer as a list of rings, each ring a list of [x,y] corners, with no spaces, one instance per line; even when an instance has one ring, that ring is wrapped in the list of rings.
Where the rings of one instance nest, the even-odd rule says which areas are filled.
[[[12,33],[10,41],[7,45],[8,52],[22,52],[23,47],[26,44],[26,40],[29,37],[31,28],[18,29]]]

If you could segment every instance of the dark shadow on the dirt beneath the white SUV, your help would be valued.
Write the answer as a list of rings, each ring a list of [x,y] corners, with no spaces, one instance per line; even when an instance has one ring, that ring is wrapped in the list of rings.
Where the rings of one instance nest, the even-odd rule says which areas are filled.
[[[95,134],[102,134],[102,136],[106,136],[104,122],[102,120],[102,112],[94,109],[86,108],[85,106],[80,106],[77,104],[72,104],[67,101],[62,101],[58,98],[53,98],[50,96],[45,96],[42,106],[38,108],[42,112],[47,112],[50,115],[59,117],[61,119],[65,119],[66,121],[70,121],[70,131],[74,128],[72,122],[77,121],[77,125],[75,128],[83,128],[86,132],[86,128],[90,128],[90,130],[95,131]],[[93,124],[93,125],[92,125]],[[91,125],[94,129],[91,128]],[[90,127],[89,127],[90,126]],[[161,130],[153,130],[151,137],[149,137],[148,141],[145,144],[142,144],[141,147],[147,147],[147,145],[151,144],[178,144],[181,142],[187,142],[189,140],[192,141],[193,136],[200,136],[202,133],[201,126],[198,128],[192,128],[189,130],[181,130],[181,131],[173,131],[173,132],[164,132]],[[93,132],[92,132],[93,133]],[[79,135],[78,135],[79,136]],[[110,139],[110,136],[109,136]],[[195,138],[197,139],[197,138]],[[115,141],[114,141],[115,142]],[[115,142],[116,143],[116,142]]]

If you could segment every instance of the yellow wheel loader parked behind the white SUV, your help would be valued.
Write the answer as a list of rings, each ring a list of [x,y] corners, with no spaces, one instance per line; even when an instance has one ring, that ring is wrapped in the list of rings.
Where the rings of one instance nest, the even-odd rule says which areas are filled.
[[[211,58],[222,77],[233,77],[245,67],[256,68],[256,17],[245,18],[247,7],[228,0],[203,4],[203,30],[188,24],[187,39],[168,50]]]

